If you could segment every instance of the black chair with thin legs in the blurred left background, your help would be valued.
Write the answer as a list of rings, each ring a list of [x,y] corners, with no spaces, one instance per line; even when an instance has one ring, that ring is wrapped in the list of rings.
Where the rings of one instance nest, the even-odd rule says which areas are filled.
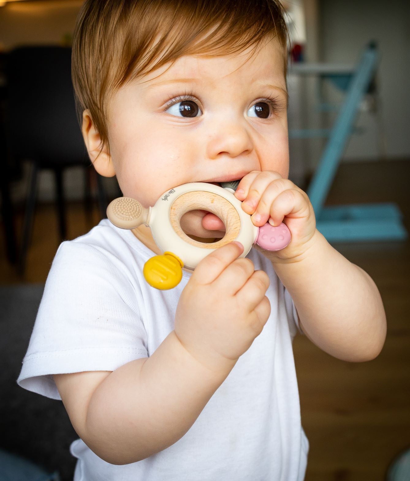
[[[24,272],[36,204],[38,173],[51,169],[56,180],[60,237],[66,222],[63,172],[84,166],[85,202],[90,207],[90,176],[98,185],[98,204],[105,217],[106,195],[102,179],[88,159],[75,111],[71,81],[71,48],[58,46],[20,47],[9,52],[6,72],[6,144],[12,163],[32,162],[30,188],[24,215],[19,272]]]

